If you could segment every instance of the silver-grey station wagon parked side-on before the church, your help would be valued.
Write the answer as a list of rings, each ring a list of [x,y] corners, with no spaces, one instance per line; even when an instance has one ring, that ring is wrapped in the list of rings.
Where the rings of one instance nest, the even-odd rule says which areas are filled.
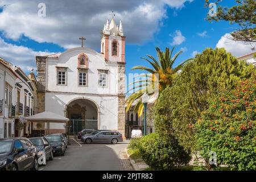
[[[91,134],[84,135],[81,140],[88,144],[92,142],[116,144],[123,142],[123,137],[122,134],[117,131],[94,131]]]

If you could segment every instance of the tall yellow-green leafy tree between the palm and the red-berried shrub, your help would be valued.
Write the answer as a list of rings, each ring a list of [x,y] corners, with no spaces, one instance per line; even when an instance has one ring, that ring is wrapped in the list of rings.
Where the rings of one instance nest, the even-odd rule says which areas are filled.
[[[161,135],[175,135],[186,150],[195,150],[192,125],[202,111],[209,108],[222,90],[236,87],[249,78],[253,65],[246,65],[224,48],[207,48],[187,63],[170,88],[165,89],[155,104],[155,129]]]

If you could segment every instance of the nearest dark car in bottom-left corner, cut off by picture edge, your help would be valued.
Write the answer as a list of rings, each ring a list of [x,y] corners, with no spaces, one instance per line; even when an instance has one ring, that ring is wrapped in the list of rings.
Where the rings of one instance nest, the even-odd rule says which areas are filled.
[[[0,139],[0,170],[38,170],[36,147],[27,138]]]

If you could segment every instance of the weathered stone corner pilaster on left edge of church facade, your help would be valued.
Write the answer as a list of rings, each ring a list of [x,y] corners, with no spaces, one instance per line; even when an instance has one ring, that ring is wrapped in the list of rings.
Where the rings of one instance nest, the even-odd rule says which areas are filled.
[[[47,57],[44,56],[36,56],[36,73],[38,76],[36,113],[42,113],[46,108],[46,59]]]

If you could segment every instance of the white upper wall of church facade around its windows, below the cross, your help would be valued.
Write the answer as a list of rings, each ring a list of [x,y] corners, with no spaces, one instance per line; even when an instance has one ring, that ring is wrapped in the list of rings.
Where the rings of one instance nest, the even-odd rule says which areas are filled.
[[[77,57],[80,53],[88,56],[88,78],[86,86],[79,86]],[[57,85],[57,68],[68,67],[67,86]],[[108,84],[106,88],[98,86],[98,69],[108,70]],[[96,51],[86,48],[76,48],[66,51],[59,56],[59,59],[47,59],[46,82],[48,91],[73,92],[73,93],[97,93],[117,94],[117,65],[113,62],[105,63],[104,56]]]

